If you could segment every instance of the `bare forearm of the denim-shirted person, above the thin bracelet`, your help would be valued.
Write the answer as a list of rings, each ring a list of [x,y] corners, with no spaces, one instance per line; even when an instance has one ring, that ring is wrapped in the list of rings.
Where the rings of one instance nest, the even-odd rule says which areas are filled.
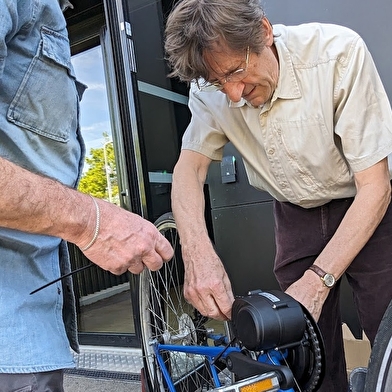
[[[87,197],[59,182],[0,158],[0,226],[75,242],[91,214]]]

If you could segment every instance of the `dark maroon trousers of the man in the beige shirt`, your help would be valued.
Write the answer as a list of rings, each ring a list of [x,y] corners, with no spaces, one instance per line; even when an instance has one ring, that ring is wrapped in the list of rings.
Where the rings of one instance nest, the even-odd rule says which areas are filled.
[[[304,209],[290,203],[274,203],[275,275],[287,289],[313,264],[331,239],[353,199],[333,200]],[[371,343],[392,299],[392,207],[366,246],[346,270],[363,330]],[[340,281],[331,290],[318,325],[324,338],[326,374],[320,392],[348,390],[340,313]]]

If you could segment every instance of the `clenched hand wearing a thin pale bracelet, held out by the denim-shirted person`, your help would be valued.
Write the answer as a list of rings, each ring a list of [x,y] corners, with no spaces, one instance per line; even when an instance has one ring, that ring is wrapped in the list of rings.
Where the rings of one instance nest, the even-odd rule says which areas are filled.
[[[170,243],[151,222],[111,203],[95,200],[100,209],[99,233],[94,244],[84,252],[92,262],[116,275],[127,270],[139,274],[145,267],[156,271],[173,257]],[[89,228],[77,244],[81,249],[95,229],[92,203],[91,208]]]

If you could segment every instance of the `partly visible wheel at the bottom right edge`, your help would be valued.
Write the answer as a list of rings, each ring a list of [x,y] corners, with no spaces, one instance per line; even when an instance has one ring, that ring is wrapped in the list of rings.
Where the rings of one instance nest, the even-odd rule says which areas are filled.
[[[374,340],[364,390],[392,390],[392,301],[385,311]]]

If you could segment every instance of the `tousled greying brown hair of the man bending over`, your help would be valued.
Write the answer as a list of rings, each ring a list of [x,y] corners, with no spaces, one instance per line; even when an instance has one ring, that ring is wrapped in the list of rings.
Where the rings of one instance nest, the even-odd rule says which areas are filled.
[[[165,30],[170,77],[184,82],[208,79],[203,54],[224,43],[233,52],[248,46],[254,53],[264,48],[265,17],[261,0],[182,0],[171,11]]]

